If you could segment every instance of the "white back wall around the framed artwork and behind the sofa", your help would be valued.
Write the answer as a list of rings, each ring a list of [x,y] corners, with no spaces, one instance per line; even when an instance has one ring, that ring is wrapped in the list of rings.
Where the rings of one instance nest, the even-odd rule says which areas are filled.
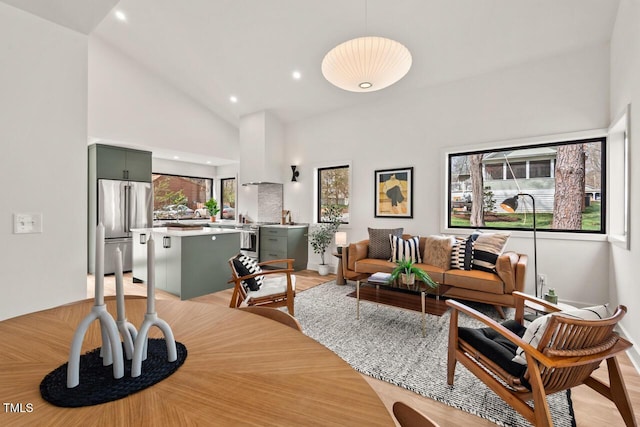
[[[366,238],[367,227],[402,226],[412,234],[440,233],[446,186],[443,152],[491,141],[606,128],[608,60],[608,46],[592,46],[289,125],[285,164],[299,164],[301,177],[297,184],[285,185],[284,204],[300,212],[296,221],[311,222],[313,168],[346,160],[353,169],[349,241]],[[405,166],[414,167],[414,218],[374,218],[374,170]],[[512,237],[508,249],[532,254],[532,239],[523,234]],[[540,238],[539,272],[548,276],[565,301],[606,301],[607,248],[603,241]],[[310,267],[318,263],[319,256],[310,250]],[[533,293],[533,260],[530,265],[528,290]]]

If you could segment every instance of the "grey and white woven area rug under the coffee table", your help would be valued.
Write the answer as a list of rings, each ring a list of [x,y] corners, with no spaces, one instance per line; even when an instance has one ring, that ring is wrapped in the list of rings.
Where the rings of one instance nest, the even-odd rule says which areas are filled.
[[[459,363],[453,387],[447,384],[449,312],[441,317],[427,315],[423,338],[417,312],[361,301],[360,320],[356,320],[356,300],[347,297],[353,290],[350,284],[328,282],[296,295],[296,318],[304,333],[363,374],[501,426],[531,425]],[[473,307],[498,316],[491,306]],[[465,315],[459,322],[460,326],[482,326]],[[548,402],[555,426],[575,426],[569,393],[549,396]]]

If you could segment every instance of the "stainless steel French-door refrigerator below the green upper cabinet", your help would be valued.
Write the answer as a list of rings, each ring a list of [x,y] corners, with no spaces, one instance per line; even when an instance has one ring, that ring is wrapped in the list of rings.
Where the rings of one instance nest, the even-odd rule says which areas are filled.
[[[152,226],[153,193],[151,183],[98,180],[98,223],[104,225],[104,272],[115,272],[116,248],[122,251],[122,269],[131,271],[133,263],[132,228]]]

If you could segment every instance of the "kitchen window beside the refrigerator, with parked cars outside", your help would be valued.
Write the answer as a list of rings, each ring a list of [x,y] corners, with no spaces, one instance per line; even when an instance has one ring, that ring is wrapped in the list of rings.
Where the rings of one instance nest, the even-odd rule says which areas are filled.
[[[153,174],[153,219],[208,218],[204,203],[212,196],[213,180]]]

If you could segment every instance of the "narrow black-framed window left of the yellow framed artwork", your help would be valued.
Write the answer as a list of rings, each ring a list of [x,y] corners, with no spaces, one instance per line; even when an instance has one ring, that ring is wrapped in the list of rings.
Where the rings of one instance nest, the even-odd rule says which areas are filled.
[[[325,210],[336,205],[342,212],[342,222],[349,222],[349,166],[318,169],[318,222],[324,222]]]

